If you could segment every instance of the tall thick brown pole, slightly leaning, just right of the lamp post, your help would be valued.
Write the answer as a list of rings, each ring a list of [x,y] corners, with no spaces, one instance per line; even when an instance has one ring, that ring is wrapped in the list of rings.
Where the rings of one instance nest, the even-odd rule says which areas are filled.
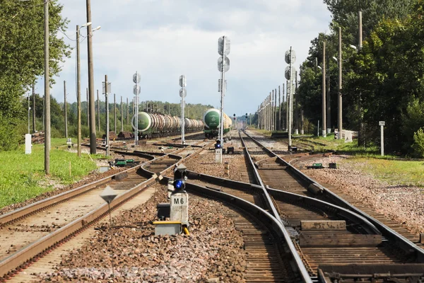
[[[91,3],[87,0],[87,23],[91,23]],[[94,107],[94,71],[93,71],[93,29],[87,25],[87,49],[88,49],[88,88],[90,88],[90,154],[96,153],[95,136],[95,107]]]

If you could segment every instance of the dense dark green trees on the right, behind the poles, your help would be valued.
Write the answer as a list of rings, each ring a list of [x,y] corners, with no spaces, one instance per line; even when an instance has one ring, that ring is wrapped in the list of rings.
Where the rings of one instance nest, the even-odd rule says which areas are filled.
[[[360,145],[379,144],[386,121],[385,148],[424,155],[424,5],[422,0],[324,0],[330,33],[311,41],[300,66],[298,94],[310,122],[321,119],[322,62],[326,60],[331,127],[337,127],[338,28],[342,30],[343,129],[360,131]],[[358,11],[363,13],[363,47],[358,47]],[[326,42],[326,58],[322,57]]]

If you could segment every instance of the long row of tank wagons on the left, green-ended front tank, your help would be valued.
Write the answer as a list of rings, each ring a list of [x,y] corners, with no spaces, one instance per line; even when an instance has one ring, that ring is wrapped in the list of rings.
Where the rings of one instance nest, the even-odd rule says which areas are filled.
[[[185,131],[195,132],[201,130],[203,122],[185,118]],[[136,115],[132,117],[131,124],[136,129]],[[170,115],[139,112],[139,138],[163,137],[181,133],[181,118]]]

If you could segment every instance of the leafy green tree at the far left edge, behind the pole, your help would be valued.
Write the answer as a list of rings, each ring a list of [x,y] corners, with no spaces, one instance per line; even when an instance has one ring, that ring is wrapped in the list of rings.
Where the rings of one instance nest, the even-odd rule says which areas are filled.
[[[43,1],[0,1],[0,151],[16,147],[19,130],[25,120],[21,106],[23,93],[37,76],[44,74],[44,5]],[[57,36],[66,28],[61,18],[62,6],[49,1],[49,67],[58,74],[69,47]],[[54,83],[54,80],[51,81]]]

